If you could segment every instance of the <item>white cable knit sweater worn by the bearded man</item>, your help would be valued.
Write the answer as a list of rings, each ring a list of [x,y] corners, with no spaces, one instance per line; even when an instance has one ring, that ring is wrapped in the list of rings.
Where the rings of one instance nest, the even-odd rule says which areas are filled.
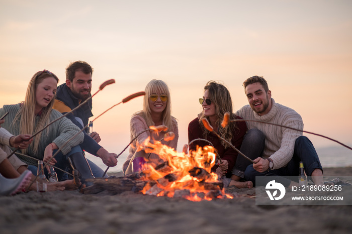
[[[236,115],[244,120],[265,121],[303,130],[300,114],[287,106],[276,103],[273,98],[272,102],[271,110],[265,115],[259,116],[249,105],[237,110]],[[293,156],[295,141],[302,136],[302,132],[265,123],[246,122],[246,124],[247,130],[256,128],[265,135],[263,158],[270,157],[273,160],[273,169],[285,167]]]

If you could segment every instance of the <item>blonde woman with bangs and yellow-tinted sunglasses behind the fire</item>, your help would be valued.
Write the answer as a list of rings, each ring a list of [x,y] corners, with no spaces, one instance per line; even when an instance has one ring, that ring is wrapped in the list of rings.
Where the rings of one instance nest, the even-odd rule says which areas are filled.
[[[146,154],[144,150],[136,150],[138,146],[143,146],[143,142],[149,137],[151,141],[161,141],[163,145],[167,145],[173,149],[177,148],[179,139],[179,129],[176,119],[171,115],[171,99],[170,91],[165,82],[162,80],[151,80],[145,87],[145,95],[143,99],[143,110],[132,115],[130,122],[131,140],[134,139],[142,131],[149,129],[150,126],[164,125],[167,132],[174,133],[174,139],[164,141],[164,133],[156,134],[155,132],[146,131],[139,135],[132,142],[129,155],[123,165],[125,175],[142,169],[145,162],[148,161],[156,166],[160,163],[160,159],[155,154]]]

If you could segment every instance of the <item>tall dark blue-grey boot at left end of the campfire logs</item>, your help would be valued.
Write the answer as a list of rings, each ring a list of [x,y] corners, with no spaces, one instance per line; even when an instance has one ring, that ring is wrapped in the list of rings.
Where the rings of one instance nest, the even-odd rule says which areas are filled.
[[[73,153],[68,156],[68,162],[70,163],[73,170],[77,170],[80,174],[80,180],[82,186],[91,186],[93,182],[85,181],[86,179],[95,178],[91,167],[89,166],[85,156],[82,152]]]

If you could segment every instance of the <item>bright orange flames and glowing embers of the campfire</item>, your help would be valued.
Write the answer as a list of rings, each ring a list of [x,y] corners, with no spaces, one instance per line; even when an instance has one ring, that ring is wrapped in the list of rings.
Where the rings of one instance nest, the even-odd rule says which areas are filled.
[[[211,172],[215,164],[214,148],[197,147],[190,155],[178,153],[159,141],[144,142],[145,153],[152,153],[167,163],[155,169],[155,163],[148,162],[141,180],[148,181],[143,194],[168,197],[183,197],[192,201],[232,198],[225,194],[222,182]]]

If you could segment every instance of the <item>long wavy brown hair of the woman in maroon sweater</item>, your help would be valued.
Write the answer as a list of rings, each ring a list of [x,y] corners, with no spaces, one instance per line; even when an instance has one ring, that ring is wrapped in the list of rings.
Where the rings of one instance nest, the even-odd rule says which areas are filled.
[[[230,122],[228,126],[225,128],[221,127],[221,122],[224,118],[224,114],[226,112],[230,113],[230,119],[233,120],[235,119],[235,115],[233,114],[232,111],[232,99],[229,90],[220,83],[217,83],[213,80],[208,81],[208,83],[204,86],[204,91],[208,90],[208,98],[215,104],[215,116],[216,116],[216,122],[211,123],[214,126],[218,127],[218,134],[226,139],[227,141],[231,142],[232,139],[232,131],[236,128],[236,123],[235,122]],[[203,137],[207,139],[208,135],[210,132],[204,127],[203,122],[201,121],[202,118],[205,117],[209,120],[209,117],[204,115],[204,110],[201,113],[199,123],[202,126],[203,130]],[[229,145],[222,141],[222,145],[225,148],[228,148]]]

